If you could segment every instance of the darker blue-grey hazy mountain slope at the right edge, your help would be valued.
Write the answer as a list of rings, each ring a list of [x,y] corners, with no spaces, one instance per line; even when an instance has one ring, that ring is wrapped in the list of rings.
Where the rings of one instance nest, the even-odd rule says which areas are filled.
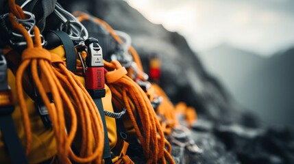
[[[241,89],[248,107],[258,111],[270,124],[294,126],[293,61],[294,49],[267,59],[247,77],[252,90]]]

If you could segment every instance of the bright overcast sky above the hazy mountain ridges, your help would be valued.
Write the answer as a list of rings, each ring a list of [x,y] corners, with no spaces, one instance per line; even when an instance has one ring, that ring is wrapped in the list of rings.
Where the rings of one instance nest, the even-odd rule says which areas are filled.
[[[127,0],[196,52],[228,43],[260,55],[294,46],[293,0]]]

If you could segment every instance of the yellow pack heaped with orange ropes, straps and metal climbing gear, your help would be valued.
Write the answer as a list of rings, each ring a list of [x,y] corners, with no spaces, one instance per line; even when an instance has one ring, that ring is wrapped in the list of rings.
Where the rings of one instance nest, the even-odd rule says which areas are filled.
[[[147,163],[175,163],[171,144],[196,151],[167,95],[148,81],[127,33],[86,14],[75,18],[55,0],[40,3],[49,8],[36,20],[37,4],[27,0],[20,6],[10,0],[8,13],[0,16],[5,31],[0,36],[1,47],[5,45],[0,60],[1,162],[133,163],[132,155],[143,155]],[[89,38],[77,19],[92,20],[110,33],[116,44],[104,55],[107,61],[100,41]],[[158,74],[151,76],[156,80]]]

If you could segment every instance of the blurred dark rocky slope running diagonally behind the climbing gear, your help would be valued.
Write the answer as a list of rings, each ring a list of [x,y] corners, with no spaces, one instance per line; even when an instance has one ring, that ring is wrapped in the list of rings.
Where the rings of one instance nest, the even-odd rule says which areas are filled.
[[[184,163],[294,163],[293,131],[260,126],[258,118],[236,104],[221,83],[204,70],[183,36],[150,23],[125,1],[60,3],[70,11],[88,11],[114,29],[129,33],[145,68],[152,54],[162,59],[160,85],[173,102],[184,101],[199,114],[191,137],[203,152],[189,154],[184,150]],[[183,151],[173,148],[175,154]]]

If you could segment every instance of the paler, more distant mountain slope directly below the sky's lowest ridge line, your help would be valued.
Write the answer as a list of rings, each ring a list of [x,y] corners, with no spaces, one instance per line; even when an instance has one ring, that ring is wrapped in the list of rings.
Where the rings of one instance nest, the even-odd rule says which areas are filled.
[[[239,88],[245,87],[243,81],[260,66],[264,60],[259,55],[221,44],[200,55],[204,66],[230,90],[240,101]]]

